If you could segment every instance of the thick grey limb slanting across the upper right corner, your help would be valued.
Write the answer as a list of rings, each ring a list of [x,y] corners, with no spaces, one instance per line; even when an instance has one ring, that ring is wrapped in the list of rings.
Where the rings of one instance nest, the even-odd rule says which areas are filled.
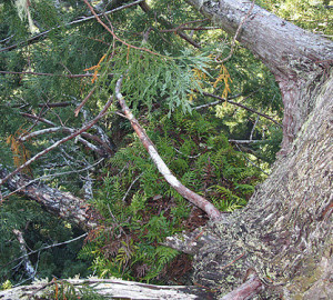
[[[185,1],[233,36],[252,7],[251,1],[240,0]],[[253,7],[242,24],[238,41],[254,52],[278,77],[294,78],[295,68],[305,73],[323,60],[331,60],[333,64],[332,41],[307,32],[259,6]]]

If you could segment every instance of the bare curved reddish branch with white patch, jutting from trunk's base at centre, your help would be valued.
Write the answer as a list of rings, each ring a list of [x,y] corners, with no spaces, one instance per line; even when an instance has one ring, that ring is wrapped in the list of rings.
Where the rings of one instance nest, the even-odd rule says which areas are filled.
[[[174,188],[182,197],[189,200],[192,204],[202,209],[209,216],[210,219],[212,220],[224,219],[223,218],[224,216],[221,213],[221,211],[218,210],[211,202],[209,202],[203,197],[188,189],[172,174],[171,170],[168,168],[165,162],[159,156],[153,142],[147,136],[144,129],[139,124],[138,120],[135,119],[135,117],[133,116],[129,107],[127,106],[125,100],[120,92],[121,84],[122,84],[122,77],[117,82],[115,97],[122,108],[123,113],[130,120],[132,128],[137,132],[139,139],[141,140],[143,147],[147,149],[154,164],[158,167],[160,173],[165,178],[165,180],[172,188]]]

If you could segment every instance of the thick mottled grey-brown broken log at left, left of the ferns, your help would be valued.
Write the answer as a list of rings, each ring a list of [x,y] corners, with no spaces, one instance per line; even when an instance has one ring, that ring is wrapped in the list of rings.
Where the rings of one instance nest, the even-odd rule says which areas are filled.
[[[0,179],[8,177],[8,174],[9,171],[0,164]],[[20,189],[19,194],[36,200],[49,212],[59,216],[70,223],[77,224],[85,231],[95,228],[102,218],[84,200],[69,192],[61,192],[58,189],[50,188],[41,182],[30,183],[30,180],[26,176],[12,176],[8,179],[6,186],[12,191]]]

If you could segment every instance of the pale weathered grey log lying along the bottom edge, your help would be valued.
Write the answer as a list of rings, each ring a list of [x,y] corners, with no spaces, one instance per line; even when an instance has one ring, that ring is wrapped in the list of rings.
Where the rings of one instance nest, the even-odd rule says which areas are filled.
[[[10,290],[0,291],[1,300],[53,299],[54,286],[74,288],[80,296],[80,288],[93,288],[105,299],[149,299],[149,300],[202,300],[214,299],[212,292],[199,287],[152,286],[118,279],[70,279],[52,282],[34,282]],[[53,296],[53,297],[52,297]],[[40,298],[41,297],[41,298]]]

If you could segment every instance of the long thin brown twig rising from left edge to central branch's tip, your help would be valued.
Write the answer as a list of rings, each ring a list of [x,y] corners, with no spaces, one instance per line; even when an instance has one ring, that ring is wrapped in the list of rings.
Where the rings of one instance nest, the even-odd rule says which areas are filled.
[[[75,132],[73,132],[72,134],[57,141],[56,143],[53,143],[52,146],[48,147],[47,149],[44,149],[43,151],[39,152],[38,154],[36,154],[33,158],[29,159],[28,161],[26,161],[23,164],[21,164],[19,168],[17,168],[14,171],[12,171],[11,173],[9,173],[8,176],[6,176],[3,179],[0,179],[0,186],[3,184],[9,178],[11,178],[12,176],[14,176],[16,173],[20,172],[22,169],[27,168],[28,166],[30,166],[32,162],[34,162],[37,159],[39,159],[40,157],[42,157],[43,154],[50,152],[51,150],[56,149],[59,144],[64,143],[73,138],[75,138],[77,136],[81,134],[82,132],[87,131],[88,129],[90,129],[91,127],[93,127],[102,117],[104,117],[108,108],[111,106],[113,100],[113,97],[110,97],[109,101],[107,102],[107,104],[103,107],[103,109],[101,110],[101,112],[93,119],[91,120],[88,124],[83,126],[81,129],[77,130]]]

